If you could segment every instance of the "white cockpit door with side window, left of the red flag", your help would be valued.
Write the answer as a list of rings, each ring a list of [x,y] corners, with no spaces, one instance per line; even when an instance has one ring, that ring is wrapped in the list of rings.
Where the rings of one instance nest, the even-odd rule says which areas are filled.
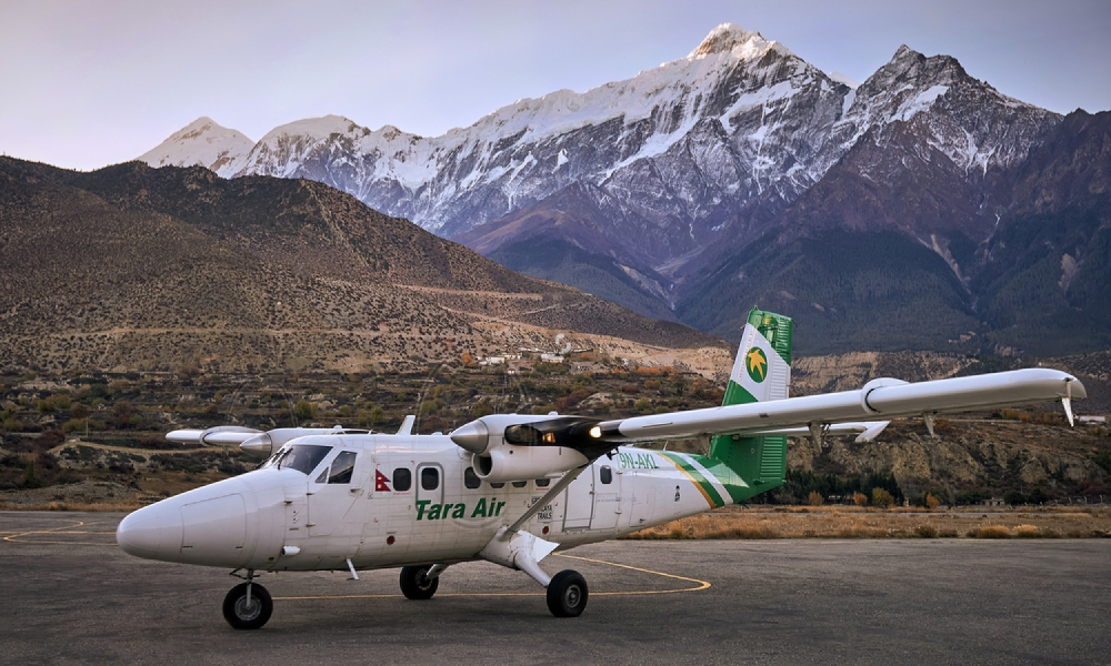
[[[316,476],[309,481],[309,536],[329,536],[341,526],[342,536],[362,535],[362,521],[352,519],[356,516],[349,517],[348,513],[367,493],[362,486],[369,472],[359,465],[359,458],[369,456],[337,448],[332,458],[314,471]]]

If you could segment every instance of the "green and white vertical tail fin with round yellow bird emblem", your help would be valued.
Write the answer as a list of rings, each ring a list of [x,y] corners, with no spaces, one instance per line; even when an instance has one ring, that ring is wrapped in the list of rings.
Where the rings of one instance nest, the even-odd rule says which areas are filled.
[[[741,334],[723,405],[788,397],[791,384],[790,317],[753,309]],[[734,502],[783,485],[787,475],[787,437],[718,435],[710,442],[710,457],[740,476],[748,488]]]

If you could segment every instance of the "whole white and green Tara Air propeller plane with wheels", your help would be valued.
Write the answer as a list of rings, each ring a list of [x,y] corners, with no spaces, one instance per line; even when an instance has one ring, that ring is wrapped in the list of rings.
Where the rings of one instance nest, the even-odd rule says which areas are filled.
[[[599,420],[492,414],[444,435],[238,426],[174,431],[172,441],[238,443],[268,455],[257,470],[140,508],[117,542],[143,558],[230,568],[223,601],[237,629],[273,613],[260,572],[401,567],[409,599],[429,599],[452,565],[487,561],[547,588],[557,617],[579,616],[581,574],[549,576],[556,551],[737,504],[784,482],[787,436],[860,432],[894,417],[1087,396],[1077,377],[1025,369],[920,383],[877,379],[858,391],[789,396],[790,317],[753,309],[720,407]],[[705,455],[633,446],[704,438]],[[664,447],[665,448],[665,447]]]

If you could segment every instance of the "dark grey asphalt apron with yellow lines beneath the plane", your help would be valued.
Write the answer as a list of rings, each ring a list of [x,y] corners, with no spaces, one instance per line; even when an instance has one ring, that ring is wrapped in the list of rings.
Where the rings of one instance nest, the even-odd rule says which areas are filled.
[[[124,554],[121,517],[0,513],[0,663],[1111,664],[1111,539],[610,542],[544,561],[590,584],[568,619],[492,564],[429,602],[397,569],[268,574],[237,632],[238,581]]]

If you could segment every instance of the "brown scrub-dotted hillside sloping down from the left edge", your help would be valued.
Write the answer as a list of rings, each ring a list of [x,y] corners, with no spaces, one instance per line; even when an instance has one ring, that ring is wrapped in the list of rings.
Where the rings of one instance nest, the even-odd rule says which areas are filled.
[[[721,345],[327,185],[201,168],[0,160],[0,365],[56,372],[358,370],[554,347],[558,331],[588,347]]]

